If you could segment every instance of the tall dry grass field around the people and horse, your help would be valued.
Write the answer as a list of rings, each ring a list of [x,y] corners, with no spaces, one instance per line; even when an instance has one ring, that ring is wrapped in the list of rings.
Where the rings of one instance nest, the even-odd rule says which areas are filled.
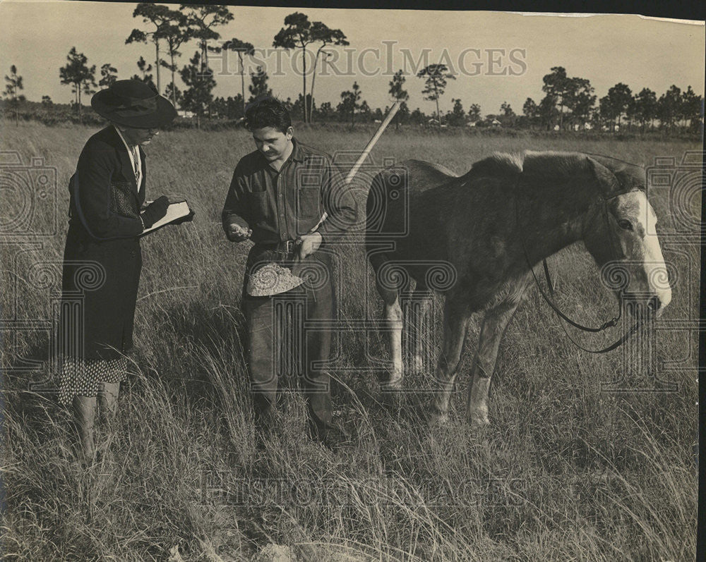
[[[17,151],[25,164],[43,157],[56,168],[59,218],[55,236],[0,240],[4,322],[52,317],[66,185],[94,131],[3,126],[4,151]],[[311,128],[297,136],[333,154],[361,149],[369,133]],[[501,346],[489,428],[462,422],[477,320],[452,421],[443,427],[419,417],[417,405],[429,401],[424,393],[376,401],[370,367],[388,358],[384,338],[345,331],[333,393],[357,445],[335,455],[306,439],[303,402],[291,393],[281,434],[256,452],[239,343],[248,247],[227,242],[220,226],[232,170],[252,147],[244,130],[191,130],[162,133],[147,148],[148,196],[184,195],[196,218],[143,240],[133,374],[123,385],[114,431],[104,429],[108,448],[100,463],[80,467],[68,411],[56,405],[54,393],[30,390],[44,376],[41,369],[17,369],[18,357],[46,350],[46,331],[5,330],[2,366],[14,368],[4,374],[3,392],[6,559],[693,559],[697,334],[660,330],[659,322],[695,326],[698,239],[687,232],[662,245],[676,268],[674,298],[656,326],[654,368],[630,379],[637,389],[649,383],[647,374],[657,374],[678,383],[676,391],[602,391],[602,383],[623,373],[627,352],[580,352],[531,288]],[[425,159],[462,173],[497,150],[580,150],[651,164],[658,156],[681,161],[686,150],[698,148],[390,129],[373,157],[378,164]],[[354,187],[360,197],[361,184]],[[684,209],[675,209],[665,190],[651,197],[660,234],[683,232]],[[683,204],[693,205],[688,216],[698,216],[700,201]],[[2,213],[8,212],[4,203]],[[344,322],[381,309],[355,245],[359,237],[351,240],[338,272]],[[52,263],[38,275],[37,262]],[[611,317],[616,303],[580,245],[553,257],[551,267],[570,315],[588,324]],[[575,336],[592,346],[609,340]],[[438,333],[430,343],[436,353]],[[428,377],[414,375],[405,384],[421,388]]]

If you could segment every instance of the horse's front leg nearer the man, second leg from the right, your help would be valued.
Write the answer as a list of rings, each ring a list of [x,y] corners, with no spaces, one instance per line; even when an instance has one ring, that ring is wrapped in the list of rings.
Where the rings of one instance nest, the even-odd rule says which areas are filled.
[[[464,303],[447,296],[443,310],[443,346],[434,372],[438,389],[431,405],[431,417],[438,422],[448,420],[448,401],[461,358],[468,318]]]

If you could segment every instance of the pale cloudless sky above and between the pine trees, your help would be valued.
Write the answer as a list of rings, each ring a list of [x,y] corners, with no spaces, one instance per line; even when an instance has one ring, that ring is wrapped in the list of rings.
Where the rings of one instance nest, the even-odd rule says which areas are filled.
[[[40,101],[49,95],[55,102],[71,101],[71,87],[61,85],[59,68],[66,64],[71,47],[88,56],[97,69],[112,63],[119,78],[138,72],[143,56],[154,62],[152,44],[125,44],[133,28],[147,29],[133,18],[136,4],[84,1],[13,1],[0,3],[0,66],[11,64],[23,76],[25,97]],[[173,6],[177,8],[177,5]],[[258,60],[270,76],[269,85],[283,99],[301,92],[301,56],[275,50],[273,37],[295,8],[229,6],[234,20],[218,28],[222,39],[237,37],[251,42]],[[569,76],[588,78],[595,94],[626,83],[633,93],[643,87],[660,94],[675,84],[690,85],[704,94],[705,27],[703,22],[683,23],[631,15],[522,15],[488,11],[395,11],[343,8],[299,8],[309,20],[342,30],[350,42],[326,68],[318,66],[317,104],[340,101],[340,92],[357,81],[369,106],[384,108],[391,74],[405,71],[410,109],[430,114],[435,105],[422,98],[423,80],[414,74],[424,63],[446,63],[455,73],[441,97],[441,110],[452,99],[464,108],[479,104],[481,113],[496,114],[503,102],[522,112],[527,97],[542,98],[542,77],[553,66],[563,66]],[[196,51],[196,42],[181,49],[179,68]],[[278,62],[279,61],[279,62]],[[311,61],[309,61],[311,66]],[[217,86],[214,94],[227,97],[241,90],[237,56],[227,61],[211,58]],[[254,66],[254,64],[253,64]],[[99,73],[97,72],[97,75]],[[162,70],[162,90],[169,80]],[[311,75],[307,78],[310,85]],[[246,76],[246,87],[249,79]],[[183,89],[177,78],[177,86]],[[246,91],[246,97],[247,94]],[[88,100],[86,101],[88,103]]]

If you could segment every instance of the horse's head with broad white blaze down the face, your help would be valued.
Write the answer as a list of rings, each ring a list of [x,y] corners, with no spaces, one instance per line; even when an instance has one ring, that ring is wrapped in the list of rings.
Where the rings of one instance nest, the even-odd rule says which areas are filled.
[[[590,157],[588,164],[597,197],[584,227],[586,248],[621,304],[638,317],[659,315],[671,301],[671,287],[644,170],[607,157]]]

